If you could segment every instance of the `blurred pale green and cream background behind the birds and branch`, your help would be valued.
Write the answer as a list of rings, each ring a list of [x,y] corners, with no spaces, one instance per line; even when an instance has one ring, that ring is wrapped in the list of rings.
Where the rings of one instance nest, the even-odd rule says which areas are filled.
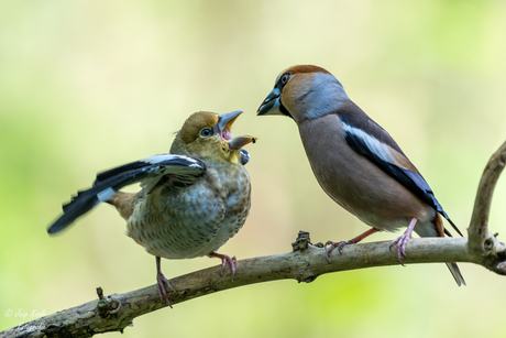
[[[242,109],[234,134],[260,139],[248,146],[251,216],[220,252],[286,252],[300,229],[316,242],[369,229],[320,189],[295,123],[255,116],[296,64],[332,72],[465,229],[483,167],[506,139],[505,18],[506,2],[492,0],[2,0],[0,330],[94,299],[97,286],[155,282],[154,258],[109,206],[61,236],[45,230],[97,172],[166,152],[197,110]],[[505,204],[503,177],[492,231],[506,232]],[[163,271],[218,263],[164,261]],[[240,287],[136,318],[121,337],[504,337],[506,280],[461,270],[466,287],[443,264]]]

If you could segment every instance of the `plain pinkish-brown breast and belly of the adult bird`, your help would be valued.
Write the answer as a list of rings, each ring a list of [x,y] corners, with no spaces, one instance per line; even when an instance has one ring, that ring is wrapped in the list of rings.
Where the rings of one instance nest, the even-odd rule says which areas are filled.
[[[329,127],[332,133],[322,133]],[[338,116],[308,120],[299,130],[320,186],[363,222],[395,231],[414,217],[421,222],[433,219],[432,208],[348,145]]]

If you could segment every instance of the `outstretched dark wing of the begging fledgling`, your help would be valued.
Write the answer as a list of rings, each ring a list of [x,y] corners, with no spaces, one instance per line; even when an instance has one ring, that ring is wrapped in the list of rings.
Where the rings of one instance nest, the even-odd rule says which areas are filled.
[[[62,215],[48,229],[55,233],[65,229],[76,218],[88,212],[122,187],[141,182],[148,193],[164,176],[170,176],[178,186],[194,184],[206,172],[204,162],[183,155],[160,154],[97,174],[94,186],[81,190],[63,206]]]

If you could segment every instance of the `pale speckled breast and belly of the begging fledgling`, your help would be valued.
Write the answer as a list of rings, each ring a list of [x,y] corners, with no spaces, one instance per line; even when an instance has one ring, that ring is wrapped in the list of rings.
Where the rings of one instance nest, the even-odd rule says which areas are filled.
[[[165,259],[207,255],[244,225],[251,185],[242,165],[212,167],[194,185],[154,188],[128,219],[127,235],[146,251]]]

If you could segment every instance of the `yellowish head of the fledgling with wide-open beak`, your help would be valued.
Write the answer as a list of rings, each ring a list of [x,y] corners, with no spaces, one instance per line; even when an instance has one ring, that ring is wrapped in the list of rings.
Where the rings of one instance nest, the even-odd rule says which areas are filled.
[[[256,141],[250,135],[232,137],[232,124],[241,113],[241,110],[222,115],[210,111],[193,113],[177,133],[170,153],[241,162],[241,149]]]

